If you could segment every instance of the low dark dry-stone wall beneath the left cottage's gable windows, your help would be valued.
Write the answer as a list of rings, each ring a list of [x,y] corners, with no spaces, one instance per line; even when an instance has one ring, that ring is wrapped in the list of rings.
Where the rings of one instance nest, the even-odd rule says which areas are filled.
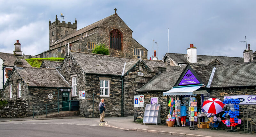
[[[0,118],[28,117],[28,102],[26,100],[8,100],[8,103],[0,108]]]

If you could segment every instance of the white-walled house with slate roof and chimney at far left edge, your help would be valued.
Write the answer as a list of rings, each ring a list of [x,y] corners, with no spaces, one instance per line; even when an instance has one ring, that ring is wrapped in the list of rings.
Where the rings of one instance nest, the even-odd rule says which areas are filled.
[[[25,60],[24,56],[22,56],[21,44],[19,43],[19,40],[17,40],[14,46],[15,49],[13,54],[0,52],[0,90],[3,89],[6,80],[10,76],[14,66],[13,63],[16,59],[21,60],[23,62],[23,66],[31,67]]]

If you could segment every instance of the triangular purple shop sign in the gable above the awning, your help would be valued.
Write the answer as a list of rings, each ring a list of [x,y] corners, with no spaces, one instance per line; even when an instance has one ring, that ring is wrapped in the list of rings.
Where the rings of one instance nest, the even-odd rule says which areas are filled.
[[[192,74],[192,72],[188,69],[185,76],[180,81],[180,85],[192,85],[192,84],[200,84],[200,82],[196,79],[196,77]]]

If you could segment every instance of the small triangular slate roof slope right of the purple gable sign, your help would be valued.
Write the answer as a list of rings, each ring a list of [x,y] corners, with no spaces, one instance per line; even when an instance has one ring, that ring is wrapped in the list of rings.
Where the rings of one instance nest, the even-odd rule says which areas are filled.
[[[196,72],[196,74],[202,80],[202,84],[207,85],[212,74],[213,67],[197,63],[189,63],[189,66]]]

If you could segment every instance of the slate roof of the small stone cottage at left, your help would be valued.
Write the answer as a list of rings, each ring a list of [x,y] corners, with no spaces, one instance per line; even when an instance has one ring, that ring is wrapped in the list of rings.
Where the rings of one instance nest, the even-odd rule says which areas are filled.
[[[71,88],[56,69],[15,67],[24,82],[30,87]]]

